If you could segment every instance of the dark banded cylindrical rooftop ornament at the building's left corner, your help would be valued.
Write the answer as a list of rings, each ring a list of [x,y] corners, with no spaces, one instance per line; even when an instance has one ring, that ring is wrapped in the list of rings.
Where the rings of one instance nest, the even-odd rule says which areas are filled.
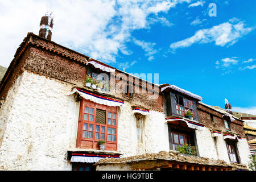
[[[39,36],[48,40],[52,39],[53,13],[47,11],[40,22]]]

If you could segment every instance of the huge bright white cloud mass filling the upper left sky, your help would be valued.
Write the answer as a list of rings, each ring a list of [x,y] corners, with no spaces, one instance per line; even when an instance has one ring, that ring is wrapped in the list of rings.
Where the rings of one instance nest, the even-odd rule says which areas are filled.
[[[130,54],[126,43],[134,30],[148,28],[148,16],[167,13],[179,1],[1,1],[0,65],[8,67],[16,48],[27,32],[38,34],[41,17],[47,10],[56,14],[52,41],[94,59],[115,62],[119,53]],[[162,19],[167,23],[166,19]]]

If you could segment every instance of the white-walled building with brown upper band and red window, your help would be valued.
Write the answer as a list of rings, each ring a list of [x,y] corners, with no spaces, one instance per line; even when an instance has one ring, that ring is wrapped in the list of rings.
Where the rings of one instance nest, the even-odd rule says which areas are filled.
[[[86,87],[88,75],[109,90]],[[0,98],[3,170],[95,169],[102,158],[168,152],[185,143],[199,157],[223,160],[213,169],[246,169],[249,162],[240,119],[177,86],[151,84],[32,33],[0,83]],[[184,117],[186,109],[192,119]]]

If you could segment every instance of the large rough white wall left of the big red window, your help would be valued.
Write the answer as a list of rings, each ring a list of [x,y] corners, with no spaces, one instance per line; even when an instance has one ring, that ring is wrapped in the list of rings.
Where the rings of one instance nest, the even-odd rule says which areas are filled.
[[[71,85],[25,71],[14,87],[0,148],[1,169],[71,170],[66,155],[76,144],[79,114],[79,103],[67,96]]]

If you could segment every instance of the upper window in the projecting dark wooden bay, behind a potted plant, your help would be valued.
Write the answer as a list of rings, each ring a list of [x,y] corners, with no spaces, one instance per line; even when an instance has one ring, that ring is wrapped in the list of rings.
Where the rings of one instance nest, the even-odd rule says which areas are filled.
[[[195,107],[193,105],[193,101],[188,100],[178,94],[175,94],[176,100],[176,114],[185,115],[185,111],[190,110],[193,113],[193,118],[196,118]]]

